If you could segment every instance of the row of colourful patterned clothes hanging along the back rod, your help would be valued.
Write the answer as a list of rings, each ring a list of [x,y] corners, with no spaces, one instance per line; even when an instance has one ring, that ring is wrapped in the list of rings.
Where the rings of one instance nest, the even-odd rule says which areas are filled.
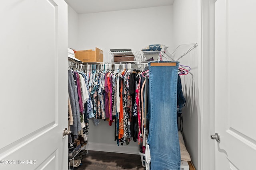
[[[92,98],[94,124],[97,125],[99,119],[107,120],[110,126],[114,122],[114,140],[118,145],[128,145],[132,138],[133,141],[138,139],[139,143],[141,138],[147,140],[150,124],[149,79],[140,74],[142,70],[137,69],[112,70],[112,67],[106,69],[105,66],[103,70],[100,67],[92,68],[87,70],[86,75],[89,80],[89,96]],[[183,96],[180,90],[178,94]],[[183,98],[182,102],[184,101]],[[179,106],[181,109],[184,104]]]

